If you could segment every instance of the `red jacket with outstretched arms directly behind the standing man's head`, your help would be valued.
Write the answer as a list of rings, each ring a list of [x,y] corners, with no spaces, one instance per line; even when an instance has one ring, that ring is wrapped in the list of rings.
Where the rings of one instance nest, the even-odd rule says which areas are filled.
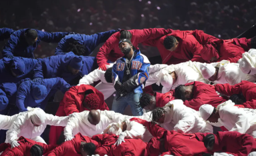
[[[128,30],[132,33],[132,45],[138,49],[138,44],[149,39],[156,39],[172,33],[172,29],[163,28],[150,28],[150,29],[133,29]],[[124,54],[119,49],[120,32],[114,33],[108,38],[108,40],[102,45],[100,51],[97,53],[97,63],[102,66],[107,63],[108,60],[114,62],[116,59],[123,57]]]

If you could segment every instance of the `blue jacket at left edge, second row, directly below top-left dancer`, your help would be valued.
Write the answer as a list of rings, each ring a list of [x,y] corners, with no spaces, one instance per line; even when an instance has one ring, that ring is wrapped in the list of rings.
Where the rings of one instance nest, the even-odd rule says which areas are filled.
[[[11,74],[11,65],[13,64],[13,61],[23,61],[25,65],[24,73],[18,77],[14,77]],[[42,74],[41,66],[38,64],[37,59],[27,59],[23,57],[14,57],[14,59],[9,59],[4,57],[0,60],[0,84],[8,82],[17,83],[21,81],[21,79],[25,78],[34,79],[37,77],[43,77]],[[35,77],[35,75],[37,75],[37,77]]]

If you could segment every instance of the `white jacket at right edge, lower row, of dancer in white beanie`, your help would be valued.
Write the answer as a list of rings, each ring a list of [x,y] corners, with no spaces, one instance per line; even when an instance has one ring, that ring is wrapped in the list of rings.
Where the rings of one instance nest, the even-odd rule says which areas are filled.
[[[256,138],[256,110],[238,108],[231,100],[218,105],[220,118],[217,123],[211,123],[216,127],[224,126],[229,131],[247,133]]]

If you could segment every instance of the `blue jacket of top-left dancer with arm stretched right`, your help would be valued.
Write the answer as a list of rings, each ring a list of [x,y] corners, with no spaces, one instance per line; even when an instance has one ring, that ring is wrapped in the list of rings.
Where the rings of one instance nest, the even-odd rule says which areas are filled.
[[[45,31],[37,31],[37,41],[33,45],[28,45],[25,40],[25,31],[27,29],[21,29],[15,31],[11,38],[9,39],[7,45],[3,49],[3,57],[7,57],[9,55],[17,56],[17,57],[27,57],[34,59],[33,51],[37,47],[37,45],[41,41],[45,41],[48,43],[57,43],[59,42],[65,35],[69,33],[48,33]]]

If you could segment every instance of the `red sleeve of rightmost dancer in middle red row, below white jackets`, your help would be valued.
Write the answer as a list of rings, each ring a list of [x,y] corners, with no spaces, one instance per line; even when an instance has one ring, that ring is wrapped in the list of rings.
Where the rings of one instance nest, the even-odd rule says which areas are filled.
[[[237,83],[236,85],[229,85],[229,83],[216,84],[215,90],[227,96],[239,94],[241,93],[241,83]]]

